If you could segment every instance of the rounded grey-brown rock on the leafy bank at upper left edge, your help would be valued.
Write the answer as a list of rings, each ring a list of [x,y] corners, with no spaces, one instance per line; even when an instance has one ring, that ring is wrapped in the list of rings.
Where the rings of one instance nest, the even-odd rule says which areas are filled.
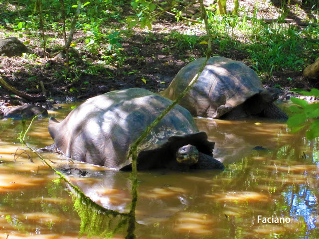
[[[3,56],[22,56],[22,53],[31,51],[16,37],[0,39],[0,55]]]

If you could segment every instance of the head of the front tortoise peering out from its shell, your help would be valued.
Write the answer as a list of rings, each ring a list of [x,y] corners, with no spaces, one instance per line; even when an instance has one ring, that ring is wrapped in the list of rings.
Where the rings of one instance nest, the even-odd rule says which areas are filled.
[[[199,153],[194,145],[187,144],[178,148],[176,152],[176,161],[180,165],[191,166],[198,162]]]

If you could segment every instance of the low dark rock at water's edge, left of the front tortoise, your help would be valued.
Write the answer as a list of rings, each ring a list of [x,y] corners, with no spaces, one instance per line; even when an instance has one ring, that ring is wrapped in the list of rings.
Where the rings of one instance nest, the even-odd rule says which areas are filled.
[[[17,106],[9,110],[5,114],[5,118],[8,119],[28,119],[36,115],[48,116],[46,109],[40,106],[24,105]]]

